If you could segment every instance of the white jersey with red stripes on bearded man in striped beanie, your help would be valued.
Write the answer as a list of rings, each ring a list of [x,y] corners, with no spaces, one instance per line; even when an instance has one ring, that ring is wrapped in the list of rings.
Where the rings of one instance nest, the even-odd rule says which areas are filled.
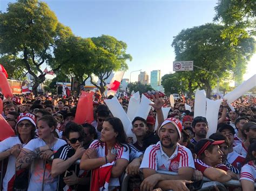
[[[142,164],[140,165],[140,169],[151,168],[156,171],[164,170],[171,172],[178,172],[178,169],[181,167],[194,168],[191,151],[185,146],[181,146],[177,143],[173,154],[171,157],[168,157],[161,147],[160,142],[146,148]]]

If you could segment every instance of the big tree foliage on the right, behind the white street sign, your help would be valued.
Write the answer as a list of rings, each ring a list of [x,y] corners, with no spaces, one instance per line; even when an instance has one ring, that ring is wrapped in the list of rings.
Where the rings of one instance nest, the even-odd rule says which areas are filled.
[[[193,60],[194,65],[210,70],[220,77],[220,81],[231,74],[244,70],[247,61],[254,53],[255,40],[253,38],[241,39],[237,46],[228,39],[221,38],[224,26],[205,24],[182,30],[174,38],[172,46],[176,53],[176,60]],[[195,89],[205,89],[207,97],[217,84],[217,79],[211,73],[194,67],[193,72],[177,72],[179,78],[187,79],[188,89],[191,94]]]

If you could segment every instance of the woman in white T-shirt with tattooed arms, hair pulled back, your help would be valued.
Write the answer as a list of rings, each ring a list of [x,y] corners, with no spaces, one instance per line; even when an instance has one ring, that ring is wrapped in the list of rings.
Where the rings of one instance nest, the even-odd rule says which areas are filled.
[[[16,160],[16,171],[29,168],[31,175],[28,190],[56,190],[57,178],[51,176],[51,163],[48,161],[59,147],[66,142],[54,136],[57,122],[46,115],[37,121],[37,135],[26,144]],[[44,182],[44,184],[43,184]]]

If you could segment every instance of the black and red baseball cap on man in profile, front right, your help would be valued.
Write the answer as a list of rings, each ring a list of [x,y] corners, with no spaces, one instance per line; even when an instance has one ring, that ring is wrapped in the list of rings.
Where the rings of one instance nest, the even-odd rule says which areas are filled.
[[[225,140],[201,139],[194,146],[194,153],[201,155],[211,145],[219,145],[225,143]]]

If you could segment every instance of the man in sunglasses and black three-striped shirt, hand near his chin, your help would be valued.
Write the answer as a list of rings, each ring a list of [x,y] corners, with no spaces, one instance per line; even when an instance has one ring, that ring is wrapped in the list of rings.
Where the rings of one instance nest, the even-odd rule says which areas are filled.
[[[82,126],[76,123],[68,123],[65,126],[65,137],[68,144],[63,145],[55,153],[52,161],[51,175],[59,178],[58,190],[80,190],[81,185],[89,185],[90,178],[87,173],[79,169],[75,162],[86,151],[83,147],[84,131]]]

